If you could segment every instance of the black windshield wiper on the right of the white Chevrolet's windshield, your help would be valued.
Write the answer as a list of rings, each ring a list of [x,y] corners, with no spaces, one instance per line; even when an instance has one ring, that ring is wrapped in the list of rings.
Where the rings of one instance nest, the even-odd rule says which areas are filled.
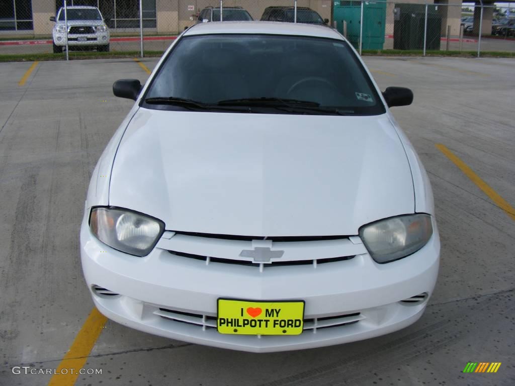
[[[218,106],[249,106],[249,107],[270,107],[289,113],[314,112],[319,114],[351,115],[353,110],[339,108],[320,107],[320,103],[310,100],[282,99],[282,98],[242,98],[225,99],[217,102]]]

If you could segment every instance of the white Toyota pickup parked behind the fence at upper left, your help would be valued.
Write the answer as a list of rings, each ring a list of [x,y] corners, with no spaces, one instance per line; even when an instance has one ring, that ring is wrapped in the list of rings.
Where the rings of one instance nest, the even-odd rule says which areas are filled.
[[[109,28],[97,7],[72,6],[59,8],[56,16],[50,16],[55,22],[52,29],[54,54],[66,47],[66,20],[68,23],[68,47],[97,48],[109,51]]]

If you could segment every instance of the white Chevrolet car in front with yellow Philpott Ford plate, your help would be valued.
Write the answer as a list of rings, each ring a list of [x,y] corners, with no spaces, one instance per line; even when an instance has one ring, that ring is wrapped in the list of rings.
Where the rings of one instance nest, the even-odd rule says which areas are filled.
[[[80,231],[98,310],[250,352],[346,343],[417,321],[435,287],[433,195],[336,30],[204,23],[170,46],[93,172]]]

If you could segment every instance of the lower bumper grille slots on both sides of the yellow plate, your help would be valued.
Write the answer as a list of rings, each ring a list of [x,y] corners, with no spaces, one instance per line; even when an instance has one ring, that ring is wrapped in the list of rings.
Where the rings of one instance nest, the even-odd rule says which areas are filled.
[[[217,318],[210,315],[176,311],[167,308],[159,308],[159,310],[156,310],[153,313],[159,315],[163,319],[202,327],[202,330],[209,328],[216,329]],[[310,330],[316,333],[317,330],[323,328],[348,326],[358,323],[363,319],[365,319],[365,317],[361,312],[346,313],[331,317],[304,319],[303,334]]]

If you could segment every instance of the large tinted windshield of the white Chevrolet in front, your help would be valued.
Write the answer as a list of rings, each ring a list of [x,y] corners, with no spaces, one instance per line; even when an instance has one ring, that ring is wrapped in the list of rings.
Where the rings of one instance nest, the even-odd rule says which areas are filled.
[[[224,106],[239,100],[239,107],[247,99],[274,98],[311,102],[311,110],[315,105],[344,109],[346,115],[385,112],[370,77],[346,42],[299,36],[184,37],[153,79],[144,99],[150,98]]]

